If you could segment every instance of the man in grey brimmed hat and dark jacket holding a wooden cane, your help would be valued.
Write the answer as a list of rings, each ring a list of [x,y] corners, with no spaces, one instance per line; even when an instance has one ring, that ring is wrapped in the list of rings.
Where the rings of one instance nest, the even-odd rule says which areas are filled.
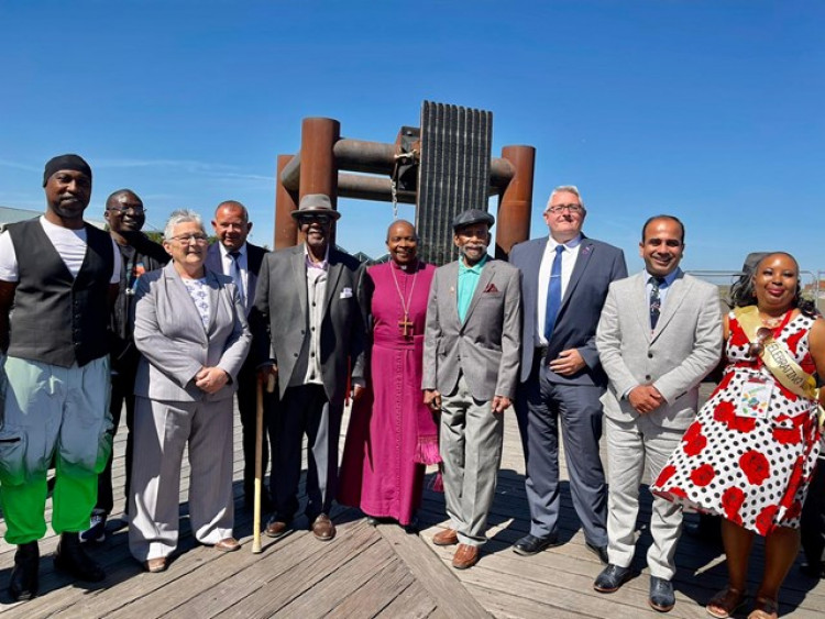
[[[280,538],[292,528],[306,434],[304,513],[315,537],[328,541],[336,535],[329,512],[338,490],[338,441],[350,368],[353,398],[361,397],[364,387],[365,270],[330,245],[332,225],[341,215],[328,196],[304,196],[293,217],[304,243],[264,256],[255,292],[261,320],[253,323],[253,345],[257,343],[262,372],[277,377],[280,397],[268,422],[274,512],[265,532]]]

